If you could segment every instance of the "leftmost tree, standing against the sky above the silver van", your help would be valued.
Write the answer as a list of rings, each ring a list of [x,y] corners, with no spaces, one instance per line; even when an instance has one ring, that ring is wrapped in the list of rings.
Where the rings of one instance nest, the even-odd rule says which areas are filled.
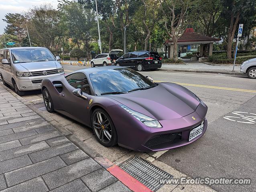
[[[10,34],[16,36],[19,44],[22,42],[22,38],[24,38],[26,34],[26,30],[24,28],[26,23],[26,18],[19,13],[8,13],[5,15],[5,19],[2,19],[7,23],[4,32],[6,34]]]

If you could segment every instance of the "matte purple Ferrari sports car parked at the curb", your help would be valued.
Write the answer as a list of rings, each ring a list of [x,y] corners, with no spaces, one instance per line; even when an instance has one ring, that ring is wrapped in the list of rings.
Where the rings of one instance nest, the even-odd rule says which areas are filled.
[[[42,93],[48,112],[91,127],[104,146],[166,150],[194,142],[207,128],[207,106],[195,94],[129,68],[87,68],[46,78]]]

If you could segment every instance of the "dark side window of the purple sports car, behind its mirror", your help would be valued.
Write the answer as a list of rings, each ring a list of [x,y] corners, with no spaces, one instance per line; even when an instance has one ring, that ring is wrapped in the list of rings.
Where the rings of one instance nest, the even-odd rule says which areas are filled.
[[[74,73],[69,79],[69,84],[73,88],[80,88],[82,92],[86,94],[91,94],[90,86],[87,77],[83,73]]]

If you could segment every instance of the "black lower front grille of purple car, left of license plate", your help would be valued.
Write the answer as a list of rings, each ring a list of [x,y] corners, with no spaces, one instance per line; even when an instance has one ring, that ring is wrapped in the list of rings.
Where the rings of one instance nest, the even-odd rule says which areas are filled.
[[[169,134],[161,134],[161,135],[156,135],[150,138],[144,146],[147,148],[167,143],[167,142],[175,142],[181,140],[181,132],[177,133],[169,133]]]

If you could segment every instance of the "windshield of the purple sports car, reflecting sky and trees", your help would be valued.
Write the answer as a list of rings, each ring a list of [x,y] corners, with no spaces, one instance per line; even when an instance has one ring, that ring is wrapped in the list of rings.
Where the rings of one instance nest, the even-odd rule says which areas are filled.
[[[109,69],[89,75],[96,95],[122,94],[156,86],[142,74],[129,69]]]

